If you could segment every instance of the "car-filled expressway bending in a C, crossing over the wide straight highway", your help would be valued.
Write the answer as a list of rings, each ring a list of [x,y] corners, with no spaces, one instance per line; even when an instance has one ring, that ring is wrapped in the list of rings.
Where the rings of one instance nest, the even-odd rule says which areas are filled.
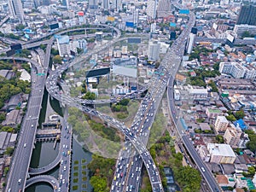
[[[150,162],[150,166],[148,166],[147,169],[148,169],[148,175],[154,178],[154,182],[151,183],[152,189],[158,189],[159,191],[163,191],[162,184],[160,181],[160,175],[156,166],[154,165],[154,160],[152,159],[151,155],[148,153],[148,150],[144,146],[143,142],[137,136],[135,136],[130,131],[130,129],[125,127],[124,124],[120,123],[116,119],[113,119],[112,117],[99,113],[95,109],[86,108],[84,105],[82,105],[82,104],[92,104],[92,102],[94,101],[92,102],[84,101],[83,103],[81,103],[81,100],[79,98],[73,98],[65,94],[60,94],[60,90],[58,90],[58,86],[56,85],[56,81],[58,77],[60,76],[61,73],[67,70],[68,67],[72,67],[74,64],[79,63],[81,61],[86,61],[88,58],[90,58],[90,55],[93,55],[94,53],[101,51],[102,49],[106,49],[111,44],[115,44],[120,40],[127,39],[127,38],[119,38],[119,37],[120,37],[120,33],[117,34],[117,38],[113,39],[108,44],[102,45],[101,48],[97,48],[90,51],[89,53],[85,54],[82,58],[78,58],[70,64],[62,65],[61,67],[56,68],[55,71],[49,73],[49,78],[47,79],[47,82],[46,82],[46,89],[49,91],[49,94],[51,96],[53,96],[56,100],[60,101],[62,104],[65,104],[69,107],[79,108],[80,110],[84,111],[84,113],[89,113],[90,115],[97,116],[102,120],[104,120],[105,122],[108,122],[108,124],[113,125],[114,127],[118,128],[120,131],[122,131],[125,134],[125,137],[127,137],[127,139],[129,139],[131,144],[134,146],[134,148],[137,149],[137,152],[138,154],[141,155],[143,162],[145,164]],[[162,71],[163,71],[162,73],[166,73],[166,70],[164,68]],[[161,79],[161,74],[155,74],[155,79]],[[104,100],[103,101],[101,100],[97,103],[102,103],[102,102],[105,103]],[[151,170],[154,170],[154,174],[153,172],[151,172]]]

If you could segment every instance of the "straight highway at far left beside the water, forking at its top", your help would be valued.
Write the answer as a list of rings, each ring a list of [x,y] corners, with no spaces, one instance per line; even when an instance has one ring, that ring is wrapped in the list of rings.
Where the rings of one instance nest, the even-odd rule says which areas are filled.
[[[52,44],[53,38],[49,42]],[[36,61],[20,59],[21,61],[32,63],[32,92],[27,103],[26,115],[21,124],[19,142],[15,148],[15,154],[10,166],[9,179],[6,186],[7,191],[23,191],[25,189],[46,79],[46,76],[38,76],[37,73],[45,73],[48,70],[51,44],[48,46],[49,50],[46,51],[48,58],[45,58],[43,67],[40,67]],[[15,58],[15,60],[18,59]],[[33,65],[38,68],[33,67]]]

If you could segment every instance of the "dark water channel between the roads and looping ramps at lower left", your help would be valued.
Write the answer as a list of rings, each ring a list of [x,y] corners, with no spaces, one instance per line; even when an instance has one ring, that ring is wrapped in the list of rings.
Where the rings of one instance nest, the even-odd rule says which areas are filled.
[[[47,91],[44,91],[46,93]],[[44,98],[47,98],[47,93],[44,94]],[[41,110],[41,115],[39,122],[42,123],[44,121],[44,116],[46,112],[46,103],[47,99],[44,99],[43,102],[43,108]],[[50,101],[51,107],[55,109],[55,111],[58,113],[61,108],[58,108],[59,102],[56,100]],[[42,167],[48,165],[51,161],[55,160],[60,144],[57,143],[56,148],[53,148],[54,143],[53,142],[38,142],[35,144],[35,148],[33,149],[32,152],[32,160],[31,160],[31,167]],[[89,182],[89,177],[88,177],[88,169],[87,169],[87,164],[91,160],[91,154],[88,151],[85,151],[82,146],[75,140],[73,139],[73,154],[72,154],[72,167],[71,167],[71,179],[70,179],[70,191],[74,192],[80,192],[80,191],[86,191],[90,192],[91,191],[91,186]],[[84,160],[84,162],[82,162]],[[79,161],[79,164],[74,164],[74,161]],[[78,171],[79,172],[79,177],[74,177],[73,173],[75,172],[73,169],[73,166],[79,166]],[[84,167],[85,168],[82,168]],[[82,175],[82,172],[86,172],[86,175]],[[53,177],[58,177],[59,175],[59,167],[55,167],[55,169],[51,170],[50,172],[47,172],[47,174],[53,176]],[[83,177],[86,177],[86,181],[82,181]],[[78,178],[77,183],[73,183],[73,179]],[[78,189],[73,190],[73,186],[77,185]],[[85,187],[86,186],[86,187]],[[26,192],[53,192],[53,189],[48,183],[35,183],[29,188],[26,189]]]

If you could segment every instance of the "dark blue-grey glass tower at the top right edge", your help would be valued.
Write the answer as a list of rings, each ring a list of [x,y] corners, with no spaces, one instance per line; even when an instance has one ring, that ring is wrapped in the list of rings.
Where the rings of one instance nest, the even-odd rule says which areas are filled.
[[[256,26],[256,6],[242,6],[236,24],[248,24],[251,26]]]

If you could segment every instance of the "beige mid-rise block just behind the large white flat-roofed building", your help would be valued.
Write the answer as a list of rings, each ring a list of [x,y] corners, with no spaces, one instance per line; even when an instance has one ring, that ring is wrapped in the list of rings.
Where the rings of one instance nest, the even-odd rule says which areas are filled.
[[[231,125],[224,133],[225,143],[229,144],[230,146],[237,147],[240,142],[241,133],[242,131],[239,127]]]

